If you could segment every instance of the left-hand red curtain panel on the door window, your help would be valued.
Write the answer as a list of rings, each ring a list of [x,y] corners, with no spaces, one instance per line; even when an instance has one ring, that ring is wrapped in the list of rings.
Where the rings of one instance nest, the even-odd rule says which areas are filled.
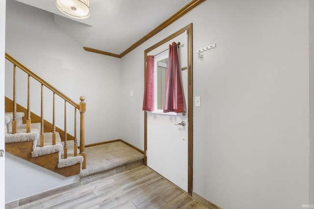
[[[154,56],[147,56],[143,110],[154,110]]]

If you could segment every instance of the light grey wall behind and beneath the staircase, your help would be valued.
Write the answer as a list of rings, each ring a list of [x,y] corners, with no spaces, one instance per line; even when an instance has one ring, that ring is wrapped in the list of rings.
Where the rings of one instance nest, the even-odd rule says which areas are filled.
[[[6,52],[74,101],[79,102],[80,95],[86,97],[85,144],[120,139],[120,59],[86,52],[53,22],[53,16],[48,12],[14,0],[8,0],[6,6]],[[12,98],[12,66],[7,61],[5,64],[5,95]],[[17,102],[26,107],[26,80],[22,82],[21,79],[26,76],[18,73],[17,77],[24,84],[17,87],[18,93],[24,93],[18,94]],[[0,76],[0,79],[2,85],[4,77]],[[3,88],[0,89],[3,99]],[[31,82],[31,98],[31,111],[40,115],[40,85],[35,82]],[[52,93],[44,92],[44,98],[52,100]],[[48,119],[52,118],[51,104],[45,103],[44,115]],[[59,106],[61,116],[56,114],[60,128],[63,128],[63,105],[61,102]],[[74,109],[68,108],[67,115],[71,112],[73,114]],[[68,121],[68,130],[71,130],[73,126],[69,123],[71,121]],[[76,177],[62,178],[18,158],[10,157],[6,161],[6,203],[78,181]],[[27,169],[25,164],[30,167]],[[33,188],[34,181],[27,175],[17,178],[26,171],[39,180],[40,186]],[[43,179],[53,179],[53,183],[49,180],[44,184]]]

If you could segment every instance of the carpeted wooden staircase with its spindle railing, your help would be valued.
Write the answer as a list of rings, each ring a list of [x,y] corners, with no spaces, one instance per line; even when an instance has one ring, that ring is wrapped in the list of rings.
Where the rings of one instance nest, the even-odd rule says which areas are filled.
[[[66,177],[78,175],[81,169],[86,168],[86,155],[84,150],[85,98],[81,96],[81,101],[77,104],[26,68],[11,55],[5,53],[5,58],[13,64],[13,100],[5,97],[5,151]],[[17,68],[28,74],[27,108],[16,103]],[[34,78],[41,83],[40,116],[30,112],[30,78]],[[48,88],[53,93],[52,123],[44,120],[43,117],[44,87]],[[64,99],[64,130],[55,126],[55,96]],[[75,109],[74,136],[67,133],[67,104],[72,105]],[[76,124],[77,110],[79,110],[80,114],[79,150]]]

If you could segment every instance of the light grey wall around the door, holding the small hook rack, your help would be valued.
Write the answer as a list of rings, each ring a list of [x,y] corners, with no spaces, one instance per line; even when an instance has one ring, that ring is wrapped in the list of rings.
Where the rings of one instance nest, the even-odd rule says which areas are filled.
[[[144,49],[193,23],[193,93],[202,97],[194,107],[193,191],[223,209],[308,204],[308,5],[208,0],[123,57],[122,103],[136,107],[123,111],[131,124],[123,137],[143,147]],[[196,50],[214,43],[198,60]]]

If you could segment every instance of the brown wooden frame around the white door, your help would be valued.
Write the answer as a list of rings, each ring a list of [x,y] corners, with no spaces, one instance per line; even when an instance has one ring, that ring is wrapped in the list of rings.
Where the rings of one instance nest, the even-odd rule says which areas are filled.
[[[146,81],[146,57],[147,53],[157,48],[158,46],[174,39],[180,34],[187,31],[187,66],[188,66],[188,90],[187,90],[187,121],[188,121],[188,160],[187,160],[187,192],[192,195],[193,191],[193,79],[192,79],[192,23],[186,25],[182,29],[161,40],[157,44],[144,50],[144,81]],[[146,82],[144,82],[146,83]],[[147,111],[144,112],[144,164],[147,166]]]

